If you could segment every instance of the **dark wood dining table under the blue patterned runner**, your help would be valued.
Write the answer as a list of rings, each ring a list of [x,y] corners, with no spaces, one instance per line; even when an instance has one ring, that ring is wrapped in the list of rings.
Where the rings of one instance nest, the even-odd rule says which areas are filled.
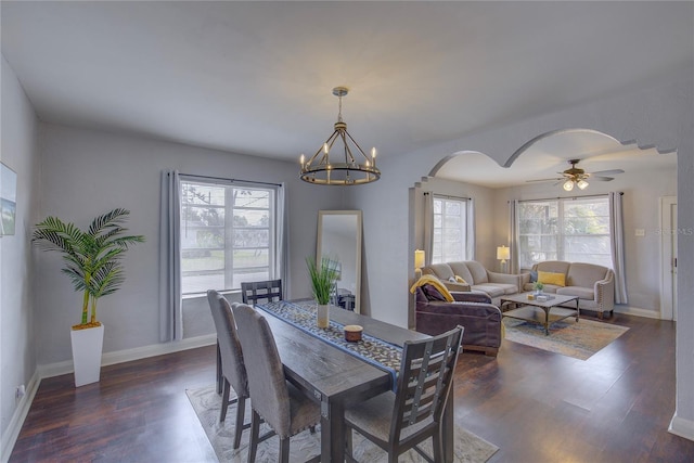
[[[262,310],[262,305],[255,307]],[[320,402],[321,462],[343,462],[345,407],[391,390],[391,373],[306,333],[275,317],[272,311],[262,310],[261,313],[272,330],[285,376]],[[364,334],[397,346],[402,346],[406,340],[429,337],[337,307],[331,307],[330,317],[343,325],[361,325]],[[447,462],[452,462],[452,393],[442,420],[445,456]]]

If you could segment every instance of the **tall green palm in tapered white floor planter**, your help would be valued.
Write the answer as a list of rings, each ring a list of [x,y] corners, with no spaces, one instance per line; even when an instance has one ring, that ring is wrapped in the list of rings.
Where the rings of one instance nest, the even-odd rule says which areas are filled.
[[[81,321],[70,332],[76,387],[99,381],[104,326],[97,320],[97,303],[120,288],[125,252],[144,242],[143,235],[126,235],[123,223],[129,215],[127,209],[113,209],[94,218],[87,231],[47,217],[36,224],[31,236],[42,250],[62,255],[65,267],[61,271],[82,293]]]

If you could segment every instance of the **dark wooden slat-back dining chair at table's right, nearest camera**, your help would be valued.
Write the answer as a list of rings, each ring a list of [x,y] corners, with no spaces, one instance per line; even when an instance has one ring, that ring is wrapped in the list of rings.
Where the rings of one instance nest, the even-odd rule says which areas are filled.
[[[397,462],[410,449],[429,463],[444,461],[441,415],[462,337],[463,327],[459,325],[429,339],[404,343],[397,393],[384,393],[345,410],[347,461],[356,461],[354,430],[388,452],[388,462]],[[419,447],[428,438],[434,455]]]

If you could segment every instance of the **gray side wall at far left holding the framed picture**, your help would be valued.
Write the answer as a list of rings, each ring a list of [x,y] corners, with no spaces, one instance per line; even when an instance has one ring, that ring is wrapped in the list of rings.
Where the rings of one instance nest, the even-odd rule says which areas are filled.
[[[1,160],[17,173],[16,230],[0,239],[0,436],[14,414],[15,390],[36,371],[30,227],[38,217],[39,121],[14,72],[2,56]],[[4,446],[3,446],[4,448]]]

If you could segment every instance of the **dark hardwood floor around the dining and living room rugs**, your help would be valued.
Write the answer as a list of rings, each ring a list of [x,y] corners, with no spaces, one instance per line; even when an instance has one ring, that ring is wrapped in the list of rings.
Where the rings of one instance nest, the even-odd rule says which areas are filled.
[[[455,420],[497,445],[491,462],[692,462],[667,432],[674,412],[674,324],[616,314],[630,330],[587,361],[504,342],[463,353]],[[215,381],[213,346],[41,382],[12,462],[216,461],[185,388]]]

